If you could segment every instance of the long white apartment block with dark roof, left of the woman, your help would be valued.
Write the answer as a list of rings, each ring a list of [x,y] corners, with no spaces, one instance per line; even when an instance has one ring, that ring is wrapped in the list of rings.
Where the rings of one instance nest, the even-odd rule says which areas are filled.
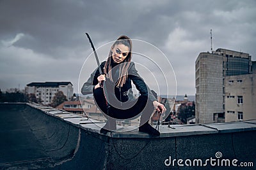
[[[68,101],[70,101],[73,96],[74,89],[71,82],[44,82],[29,83],[25,87],[25,92],[27,94],[35,94],[36,99],[42,101],[42,104],[52,103],[52,99],[57,92],[63,92],[67,96]]]

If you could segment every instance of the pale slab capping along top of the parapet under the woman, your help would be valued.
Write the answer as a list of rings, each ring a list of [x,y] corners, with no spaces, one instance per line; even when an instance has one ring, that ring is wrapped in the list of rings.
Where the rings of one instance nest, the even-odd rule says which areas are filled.
[[[68,124],[81,127],[86,131],[98,132],[100,128],[104,126],[104,123],[97,120],[86,119],[81,116],[77,116],[73,113],[61,111],[38,104],[29,104],[36,109],[44,111],[48,115],[53,117],[61,118],[61,120]],[[250,120],[246,122],[231,122],[231,123],[220,123],[220,124],[198,124],[198,125],[160,125],[159,131],[161,135],[159,138],[168,138],[174,136],[190,136],[197,134],[214,134],[222,132],[240,132],[240,131],[255,131],[256,120]],[[122,127],[117,126],[116,132],[108,133],[106,136],[111,138],[150,138],[148,134],[138,132],[138,127]]]

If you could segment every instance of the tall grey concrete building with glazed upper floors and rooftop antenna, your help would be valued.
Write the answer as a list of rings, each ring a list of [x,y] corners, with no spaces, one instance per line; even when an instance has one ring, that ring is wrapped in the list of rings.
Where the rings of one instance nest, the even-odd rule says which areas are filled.
[[[196,123],[225,121],[225,82],[227,76],[253,73],[248,53],[219,48],[216,52],[202,52],[195,62]]]

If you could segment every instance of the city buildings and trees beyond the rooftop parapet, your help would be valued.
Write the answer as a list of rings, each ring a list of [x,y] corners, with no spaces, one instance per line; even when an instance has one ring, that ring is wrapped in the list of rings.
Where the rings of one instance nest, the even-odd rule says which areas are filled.
[[[195,61],[195,96],[159,96],[159,101],[164,101],[169,108],[166,119],[161,118],[161,121],[166,124],[211,124],[255,119],[256,61],[251,58],[248,53],[223,48],[200,53]],[[1,92],[0,102],[11,101],[8,97],[11,92],[17,94],[19,90],[12,89],[5,96]],[[93,96],[74,94],[70,81],[31,82],[21,93],[24,99],[18,102],[40,103],[106,121]],[[153,115],[151,123],[158,119],[156,114]],[[138,122],[139,118],[118,124],[127,126]]]

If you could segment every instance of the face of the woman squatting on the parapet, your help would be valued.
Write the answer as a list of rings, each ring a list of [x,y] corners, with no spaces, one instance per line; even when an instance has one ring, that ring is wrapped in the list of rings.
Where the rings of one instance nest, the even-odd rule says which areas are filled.
[[[121,63],[125,60],[129,53],[129,47],[123,44],[115,45],[111,48],[112,51],[112,59],[115,63]]]

